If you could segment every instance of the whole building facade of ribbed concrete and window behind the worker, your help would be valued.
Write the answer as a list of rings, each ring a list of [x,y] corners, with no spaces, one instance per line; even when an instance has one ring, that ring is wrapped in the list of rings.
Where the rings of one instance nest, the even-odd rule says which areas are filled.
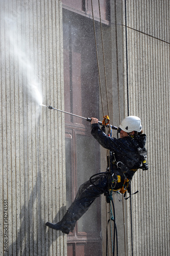
[[[168,255],[168,1],[2,0],[0,11],[1,254],[106,255],[104,195],[68,236],[45,226],[106,170],[90,123],[52,105],[115,126],[141,118],[149,170],[132,180],[132,226],[130,200],[114,196],[118,253]]]

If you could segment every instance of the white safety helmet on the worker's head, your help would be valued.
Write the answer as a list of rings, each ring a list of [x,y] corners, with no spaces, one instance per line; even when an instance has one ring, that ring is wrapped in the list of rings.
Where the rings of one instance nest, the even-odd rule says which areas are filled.
[[[132,131],[141,132],[141,127],[141,120],[137,116],[128,116],[120,124],[120,129],[127,133]]]

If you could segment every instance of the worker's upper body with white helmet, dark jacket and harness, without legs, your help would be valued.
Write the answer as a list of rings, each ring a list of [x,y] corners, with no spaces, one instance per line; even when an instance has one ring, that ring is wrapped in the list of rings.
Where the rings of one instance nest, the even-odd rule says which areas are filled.
[[[136,116],[126,117],[120,124],[120,138],[111,138],[101,131],[98,119],[92,120],[92,135],[110,150],[111,187],[125,193],[129,182],[138,168],[148,169],[147,150],[144,147],[147,136],[142,134],[141,120]]]

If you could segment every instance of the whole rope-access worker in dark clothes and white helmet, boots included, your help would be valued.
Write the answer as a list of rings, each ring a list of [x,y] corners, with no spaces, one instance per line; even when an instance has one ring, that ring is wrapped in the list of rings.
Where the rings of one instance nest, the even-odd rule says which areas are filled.
[[[83,183],[62,220],[58,223],[46,222],[46,226],[68,234],[93,201],[108,190],[108,186],[114,191],[123,189],[124,193],[136,170],[148,169],[144,147],[146,135],[142,134],[140,118],[126,117],[120,124],[119,132],[119,139],[109,137],[100,129],[98,119],[91,118],[92,136],[110,150],[110,172],[101,173]]]

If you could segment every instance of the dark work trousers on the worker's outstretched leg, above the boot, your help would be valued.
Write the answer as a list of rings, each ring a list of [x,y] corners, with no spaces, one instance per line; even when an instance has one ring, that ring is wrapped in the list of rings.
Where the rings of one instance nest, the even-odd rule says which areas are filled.
[[[62,225],[73,230],[76,222],[85,214],[94,200],[107,190],[107,175],[101,174],[83,183],[78,190],[77,196],[68,208],[63,219],[60,221]]]

